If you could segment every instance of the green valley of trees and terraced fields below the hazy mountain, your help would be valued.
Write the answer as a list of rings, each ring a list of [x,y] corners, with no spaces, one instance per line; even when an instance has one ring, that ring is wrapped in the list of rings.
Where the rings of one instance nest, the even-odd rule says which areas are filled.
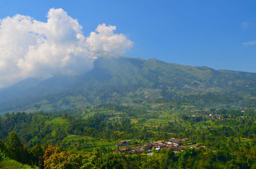
[[[0,124],[0,139],[4,140],[0,142],[2,166],[8,163],[39,168],[256,166],[256,110],[250,108],[175,110],[163,104],[147,110],[106,104],[52,113],[6,114],[0,118]],[[145,149],[148,143],[173,137],[188,141],[180,149]],[[122,140],[130,140],[129,145],[116,147]],[[136,146],[144,147],[143,151],[120,151]],[[153,152],[152,156],[147,156],[148,152]]]

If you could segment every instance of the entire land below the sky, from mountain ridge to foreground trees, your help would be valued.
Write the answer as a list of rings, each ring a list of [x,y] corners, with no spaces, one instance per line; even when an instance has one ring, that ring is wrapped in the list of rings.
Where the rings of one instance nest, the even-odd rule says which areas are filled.
[[[256,73],[96,53],[0,90],[0,168],[256,168]]]

